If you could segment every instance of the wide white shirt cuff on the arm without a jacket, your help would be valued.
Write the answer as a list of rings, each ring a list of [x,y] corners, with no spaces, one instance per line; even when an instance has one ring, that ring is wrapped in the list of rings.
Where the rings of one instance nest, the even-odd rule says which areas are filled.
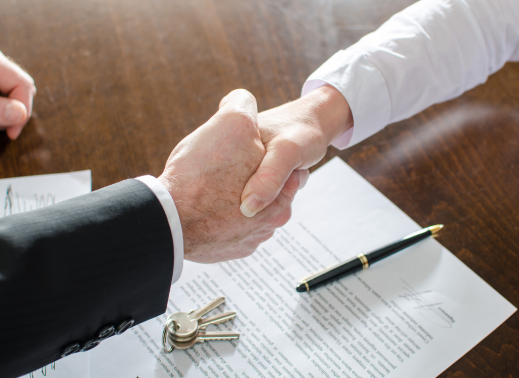
[[[386,82],[362,54],[351,49],[336,52],[308,77],[301,96],[324,84],[343,93],[353,115],[353,128],[332,143],[337,149],[357,144],[387,125],[391,104]]]

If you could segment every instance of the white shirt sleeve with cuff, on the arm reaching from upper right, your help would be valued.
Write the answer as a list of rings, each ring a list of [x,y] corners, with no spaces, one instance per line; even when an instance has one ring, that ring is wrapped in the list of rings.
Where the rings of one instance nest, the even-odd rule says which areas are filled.
[[[340,50],[306,80],[348,101],[353,128],[339,149],[453,99],[519,60],[519,0],[421,0]]]

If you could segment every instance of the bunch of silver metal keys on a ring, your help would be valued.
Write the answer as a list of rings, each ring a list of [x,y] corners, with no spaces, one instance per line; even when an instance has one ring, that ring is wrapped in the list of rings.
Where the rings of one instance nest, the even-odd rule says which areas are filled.
[[[170,353],[173,349],[188,349],[196,343],[202,343],[206,340],[238,339],[240,337],[238,332],[206,331],[207,326],[210,324],[223,323],[236,316],[236,312],[227,311],[202,319],[202,316],[224,302],[225,298],[220,296],[207,305],[197,310],[192,310],[190,313],[171,314],[166,321],[164,332],[162,333],[162,347],[165,352]]]

